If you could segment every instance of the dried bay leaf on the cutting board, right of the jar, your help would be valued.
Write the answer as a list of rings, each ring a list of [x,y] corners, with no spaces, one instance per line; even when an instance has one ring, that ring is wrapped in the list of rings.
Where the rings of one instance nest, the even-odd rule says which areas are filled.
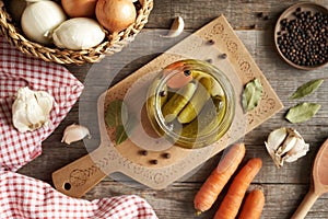
[[[254,79],[245,85],[242,101],[245,112],[254,110],[259,104],[263,88],[259,79]]]

